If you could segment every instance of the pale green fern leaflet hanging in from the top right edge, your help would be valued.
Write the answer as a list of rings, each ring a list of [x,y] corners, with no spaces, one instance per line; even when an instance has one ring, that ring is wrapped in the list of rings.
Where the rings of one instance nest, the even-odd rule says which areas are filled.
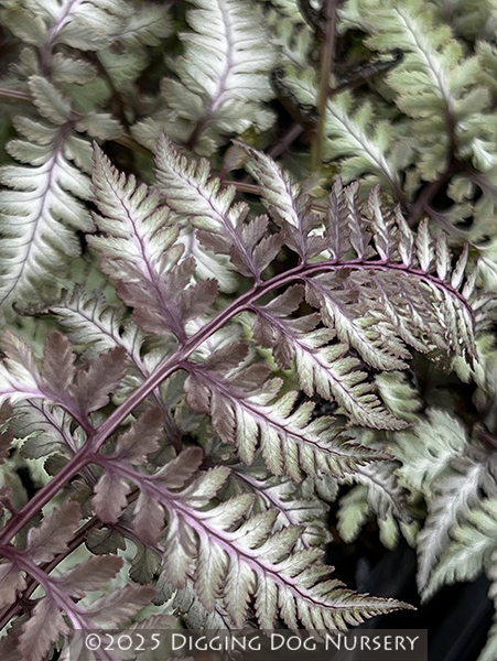
[[[404,52],[388,83],[398,95],[398,107],[413,119],[410,126],[419,144],[421,175],[429,181],[436,178],[455,137],[463,151],[472,150],[472,116],[488,105],[486,90],[474,86],[477,58],[463,56],[450,28],[441,24],[433,8],[421,0],[389,6],[364,0],[352,4],[350,12],[345,7],[341,17],[344,26],[360,23],[363,30],[366,28],[371,34],[366,41],[368,47],[380,52],[400,47]]]

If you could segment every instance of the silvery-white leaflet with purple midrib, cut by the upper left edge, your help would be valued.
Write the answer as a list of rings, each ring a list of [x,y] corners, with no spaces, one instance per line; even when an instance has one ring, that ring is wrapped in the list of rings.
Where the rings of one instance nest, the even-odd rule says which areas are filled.
[[[56,119],[53,95],[43,98],[52,99],[47,115]],[[93,227],[77,199],[89,197],[89,180],[72,163],[82,148],[89,145],[82,140],[74,142],[77,139],[68,136],[67,122],[48,127],[19,119],[15,126],[25,140],[13,140],[9,150],[29,166],[3,165],[0,170],[0,181],[7,187],[0,194],[4,214],[0,304],[6,312],[12,303],[39,301],[41,283],[53,291],[54,271],[65,266],[67,257],[79,254],[74,229],[88,231]]]

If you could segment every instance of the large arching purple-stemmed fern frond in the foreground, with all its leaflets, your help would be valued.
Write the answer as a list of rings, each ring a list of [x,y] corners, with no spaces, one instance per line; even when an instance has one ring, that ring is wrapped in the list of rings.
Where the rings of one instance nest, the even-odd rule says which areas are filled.
[[[370,483],[368,469],[391,462],[361,429],[408,426],[371,371],[406,368],[409,346],[474,359],[467,250],[453,260],[426,223],[413,234],[378,187],[363,203],[357,184],[337,181],[322,209],[309,182],[235,149],[267,214],[165,136],[152,188],[95,147],[88,242],[125,305],[66,292],[46,310],[66,335],[52,332],[40,360],[3,336],[1,456],[24,438],[20,452],[46,457],[52,476],[23,507],[1,492],[9,659],[40,661],[71,628],[118,626],[152,602],[140,627],[168,628],[182,610],[194,627],[270,629],[279,617],[343,629],[408,607],[334,579],[309,510],[316,489]],[[296,266],[279,272],[282,250]],[[226,256],[238,295],[205,277],[204,256]],[[335,413],[317,414],[316,398]],[[91,602],[125,549],[133,583]]]

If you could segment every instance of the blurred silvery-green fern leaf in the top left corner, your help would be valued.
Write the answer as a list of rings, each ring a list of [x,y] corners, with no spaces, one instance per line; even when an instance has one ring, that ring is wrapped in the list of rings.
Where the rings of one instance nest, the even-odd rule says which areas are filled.
[[[97,69],[78,57],[78,52],[98,52],[98,66],[104,67],[121,93],[132,93],[131,83],[147,66],[144,46],[158,45],[171,32],[168,8],[120,0],[63,0],[48,6],[22,0],[3,9],[2,21],[24,43],[40,51],[42,69],[37,68],[35,56],[31,67],[24,67],[24,75],[50,71],[56,83],[82,86],[96,77]],[[88,105],[85,89],[73,91],[75,99]],[[100,99],[109,94],[108,89],[99,88]],[[94,99],[89,102],[91,107]],[[90,134],[98,137],[101,132],[100,126],[98,132]],[[107,129],[106,138],[108,134]]]

